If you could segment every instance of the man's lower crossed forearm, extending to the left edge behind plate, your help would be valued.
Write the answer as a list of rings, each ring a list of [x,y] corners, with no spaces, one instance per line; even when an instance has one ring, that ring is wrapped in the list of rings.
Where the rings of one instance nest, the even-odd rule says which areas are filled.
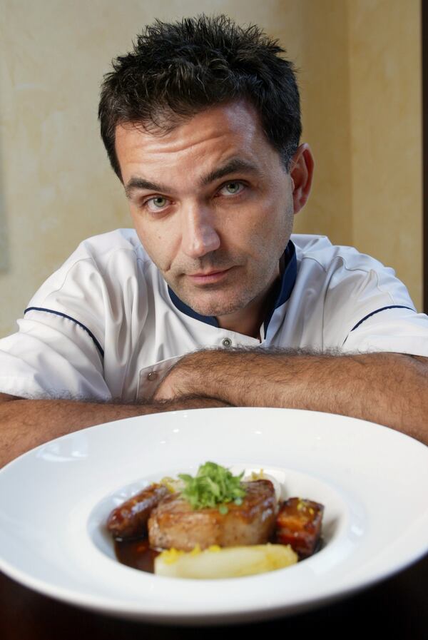
[[[137,415],[224,406],[224,402],[209,397],[181,397],[139,405],[73,400],[0,402],[0,467],[33,447],[84,427]]]

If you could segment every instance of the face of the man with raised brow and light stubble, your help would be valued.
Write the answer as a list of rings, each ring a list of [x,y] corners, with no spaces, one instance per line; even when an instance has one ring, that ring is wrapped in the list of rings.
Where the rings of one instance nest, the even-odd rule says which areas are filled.
[[[237,101],[163,136],[116,128],[133,223],[170,288],[201,315],[263,305],[292,230],[292,180]]]

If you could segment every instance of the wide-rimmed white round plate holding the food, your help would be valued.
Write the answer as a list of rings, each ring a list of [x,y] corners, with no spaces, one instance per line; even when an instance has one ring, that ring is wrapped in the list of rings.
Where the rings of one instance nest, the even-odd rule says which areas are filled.
[[[179,580],[119,564],[103,523],[153,479],[213,460],[277,475],[325,504],[325,547],[288,569]],[[427,551],[428,447],[337,415],[205,409],[111,422],[53,440],[0,472],[0,569],[54,598],[109,614],[213,624],[310,609]]]

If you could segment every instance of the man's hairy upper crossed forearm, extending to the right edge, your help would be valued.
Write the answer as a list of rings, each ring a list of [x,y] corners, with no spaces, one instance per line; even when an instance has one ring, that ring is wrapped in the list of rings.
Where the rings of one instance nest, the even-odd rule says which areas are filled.
[[[338,413],[428,444],[428,358],[399,353],[209,350],[183,357],[156,399],[204,393],[250,407]]]

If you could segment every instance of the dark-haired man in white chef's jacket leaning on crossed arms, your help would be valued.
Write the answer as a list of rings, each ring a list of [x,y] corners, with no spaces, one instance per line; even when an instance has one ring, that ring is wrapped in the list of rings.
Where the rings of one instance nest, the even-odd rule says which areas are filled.
[[[428,318],[376,260],[290,240],[313,160],[281,53],[202,16],[157,22],[113,64],[101,135],[136,231],[83,242],[0,341],[3,462],[88,425],[225,405],[428,442]]]

